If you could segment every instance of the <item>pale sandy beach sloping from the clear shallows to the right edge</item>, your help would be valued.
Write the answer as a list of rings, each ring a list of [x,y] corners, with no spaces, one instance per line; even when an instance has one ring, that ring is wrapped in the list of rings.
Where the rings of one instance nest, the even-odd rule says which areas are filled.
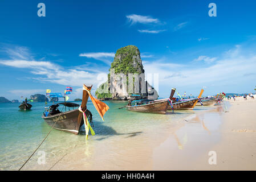
[[[161,133],[148,131],[151,138],[138,139],[135,133],[93,146],[88,142],[86,148],[76,144],[62,158],[25,170],[255,170],[256,100],[224,103],[196,107]],[[216,164],[209,164],[210,151],[216,152]]]

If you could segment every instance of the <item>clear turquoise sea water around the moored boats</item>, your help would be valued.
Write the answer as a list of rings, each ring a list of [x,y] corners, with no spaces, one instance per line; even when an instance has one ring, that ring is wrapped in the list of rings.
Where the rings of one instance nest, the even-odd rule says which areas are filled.
[[[76,103],[80,104],[80,102]],[[93,148],[95,143],[104,143],[106,140],[114,142],[121,137],[136,137],[136,140],[147,139],[156,129],[157,134],[161,134],[170,127],[178,125],[178,119],[194,112],[188,110],[176,111],[174,114],[137,113],[118,109],[127,104],[124,101],[105,101],[105,103],[110,109],[104,115],[105,121],[103,122],[91,101],[88,101],[87,107],[93,114],[96,135],[90,135],[87,142],[85,142],[84,132],[74,135],[59,130],[51,131],[39,148],[39,151],[46,152],[48,162],[55,162],[59,156],[76,146]],[[32,103],[29,111],[21,111],[18,106],[19,104],[0,104],[1,170],[19,169],[51,129],[41,118],[44,102]],[[195,111],[204,109],[207,108],[197,107]],[[83,126],[82,130],[84,130]],[[36,162],[36,155],[35,153],[26,164],[28,169]],[[40,169],[40,166],[32,169]]]

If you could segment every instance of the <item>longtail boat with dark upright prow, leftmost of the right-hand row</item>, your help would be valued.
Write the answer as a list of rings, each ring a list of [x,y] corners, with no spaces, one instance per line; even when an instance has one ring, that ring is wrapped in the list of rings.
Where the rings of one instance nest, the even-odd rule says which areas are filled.
[[[162,100],[135,100],[129,101],[127,110],[130,111],[137,111],[143,113],[158,113],[158,114],[165,114],[166,110],[169,106],[169,101],[172,100],[174,95],[175,89],[172,89],[169,98],[165,98]]]

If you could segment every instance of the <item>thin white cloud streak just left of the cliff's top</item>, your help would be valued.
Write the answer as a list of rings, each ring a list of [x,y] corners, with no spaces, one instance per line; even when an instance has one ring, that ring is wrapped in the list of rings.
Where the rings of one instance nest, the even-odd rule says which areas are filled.
[[[96,60],[103,61],[106,64],[110,64],[111,61],[109,58],[115,57],[114,52],[88,52],[88,53],[80,53],[80,57],[88,57]]]

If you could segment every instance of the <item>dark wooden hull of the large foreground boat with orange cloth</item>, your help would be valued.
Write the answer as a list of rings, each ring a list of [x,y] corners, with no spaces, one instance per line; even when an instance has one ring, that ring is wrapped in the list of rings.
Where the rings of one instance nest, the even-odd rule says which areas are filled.
[[[42,115],[44,121],[51,127],[54,125],[54,129],[70,132],[73,134],[79,133],[79,128],[83,125],[83,122],[78,122],[79,110],[74,109],[64,113],[59,113],[50,116]],[[83,121],[83,119],[82,119]]]

